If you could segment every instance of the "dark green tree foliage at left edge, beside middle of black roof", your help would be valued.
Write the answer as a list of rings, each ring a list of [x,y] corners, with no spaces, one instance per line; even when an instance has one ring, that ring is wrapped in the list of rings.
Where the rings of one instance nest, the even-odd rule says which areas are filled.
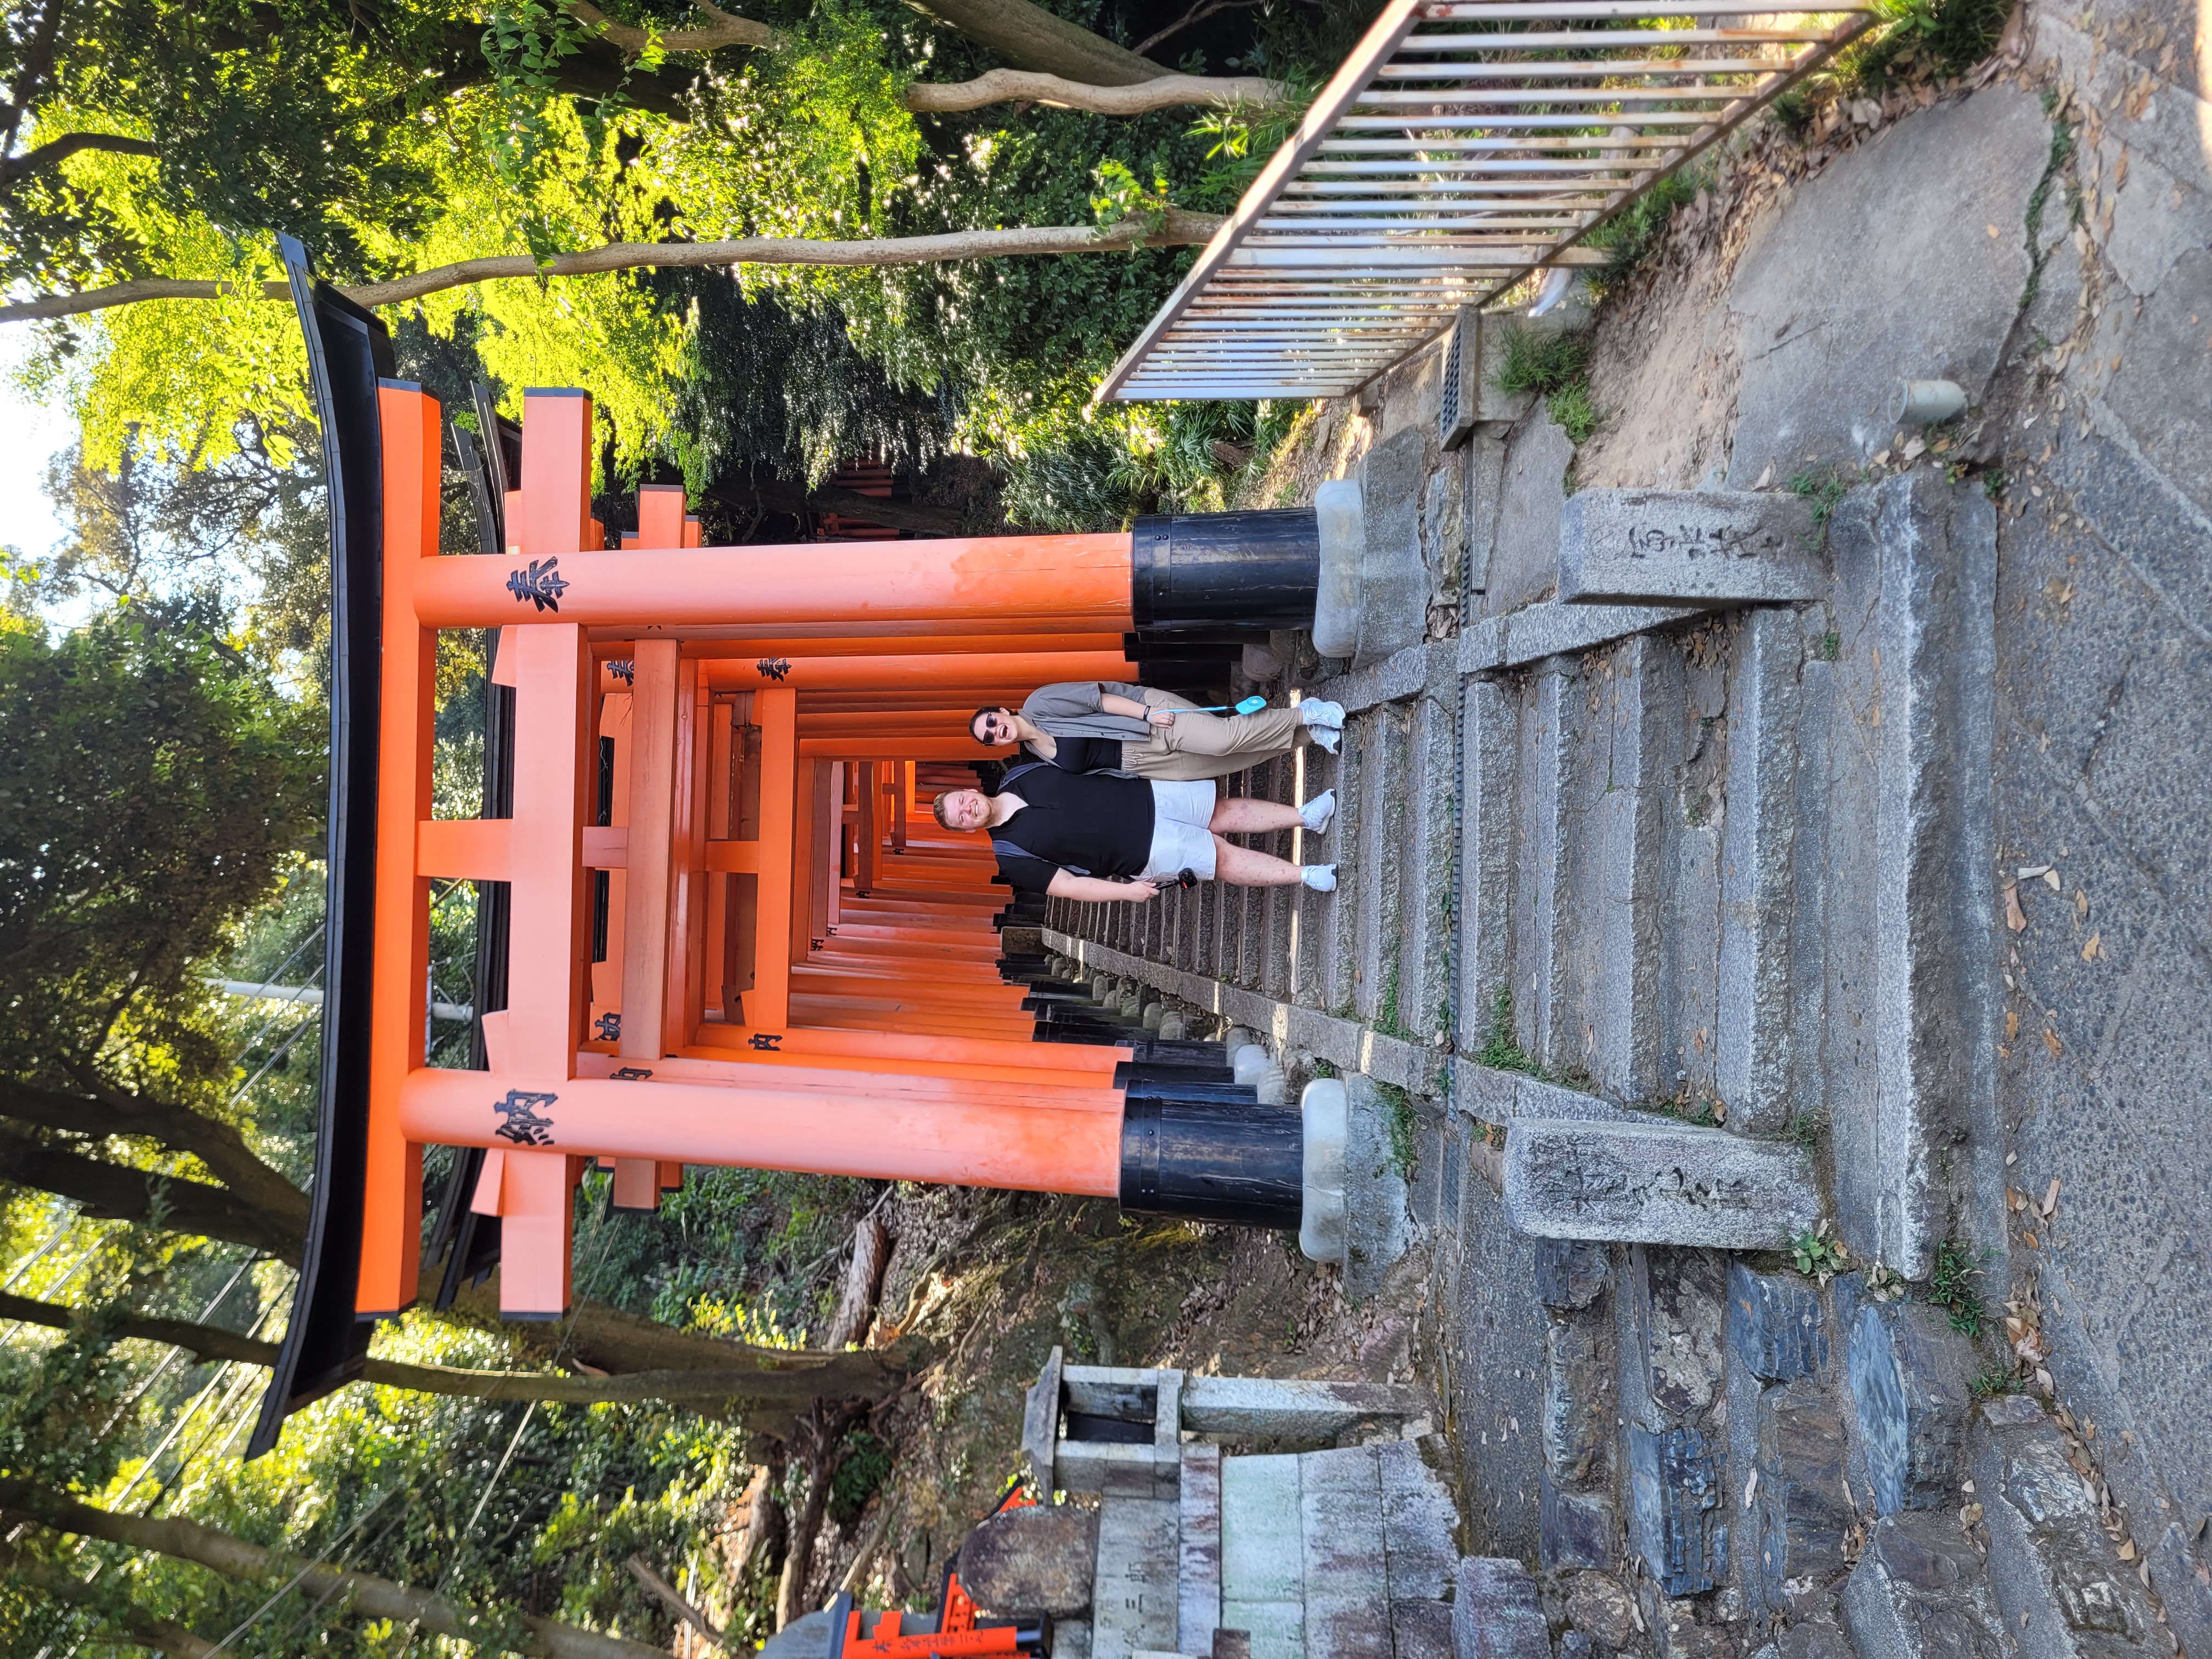
[[[49,641],[0,633],[0,1075],[197,1091],[226,1071],[190,978],[321,838],[312,710],[192,597]]]

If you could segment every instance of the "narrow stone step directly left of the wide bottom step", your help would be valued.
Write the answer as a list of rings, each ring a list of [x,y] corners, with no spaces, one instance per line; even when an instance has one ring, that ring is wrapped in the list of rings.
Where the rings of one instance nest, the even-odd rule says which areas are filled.
[[[1714,1031],[1714,1086],[1739,1135],[1781,1135],[1790,1126],[1790,854],[1803,659],[1794,611],[1745,615],[1728,684]]]

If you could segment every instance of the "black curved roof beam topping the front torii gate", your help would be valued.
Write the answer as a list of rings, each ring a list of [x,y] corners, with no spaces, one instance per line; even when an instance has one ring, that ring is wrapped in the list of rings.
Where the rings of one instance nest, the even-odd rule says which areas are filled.
[[[372,1321],[354,1318],[369,1148],[369,973],[376,918],[376,728],[383,657],[383,431],[376,383],[396,378],[392,336],[316,279],[307,250],[276,239],[307,336],[307,383],[330,484],[330,852],[323,1077],[307,1252],[283,1352],[261,1396],[248,1458],[283,1420],[361,1376]]]

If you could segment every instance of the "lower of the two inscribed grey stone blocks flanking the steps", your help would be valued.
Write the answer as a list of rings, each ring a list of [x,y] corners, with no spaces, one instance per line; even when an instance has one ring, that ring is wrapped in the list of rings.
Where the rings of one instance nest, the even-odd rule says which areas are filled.
[[[1666,1121],[1506,1126],[1504,1208],[1537,1239],[1781,1250],[1820,1219],[1794,1144]]]

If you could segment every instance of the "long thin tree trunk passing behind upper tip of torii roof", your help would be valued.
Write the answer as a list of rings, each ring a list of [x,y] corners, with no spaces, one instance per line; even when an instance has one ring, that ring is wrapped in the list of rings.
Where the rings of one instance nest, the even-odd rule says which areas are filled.
[[[356,283],[341,292],[358,305],[405,305],[411,299],[440,294],[469,283],[511,281],[520,276],[595,276],[611,270],[677,270],[684,265],[938,265],[962,259],[1020,259],[1035,254],[1099,254],[1121,248],[1190,248],[1212,241],[1221,215],[1168,208],[1161,226],[1148,230],[1139,219],[1117,226],[1018,226],[1011,230],[947,230],[936,237],[874,237],[867,241],[810,241],[805,237],[741,237],[737,241],[617,241],[575,254],[553,254],[540,265],[529,254],[491,254],[451,265],[418,270],[385,283]],[[223,299],[248,292],[250,285],[223,281],[190,281],[153,276],[113,288],[91,288],[82,294],[46,294],[15,305],[0,305],[0,323],[29,323],[46,316],[84,316],[115,305],[137,305],[148,299]],[[288,283],[261,283],[261,296],[285,301]]]

